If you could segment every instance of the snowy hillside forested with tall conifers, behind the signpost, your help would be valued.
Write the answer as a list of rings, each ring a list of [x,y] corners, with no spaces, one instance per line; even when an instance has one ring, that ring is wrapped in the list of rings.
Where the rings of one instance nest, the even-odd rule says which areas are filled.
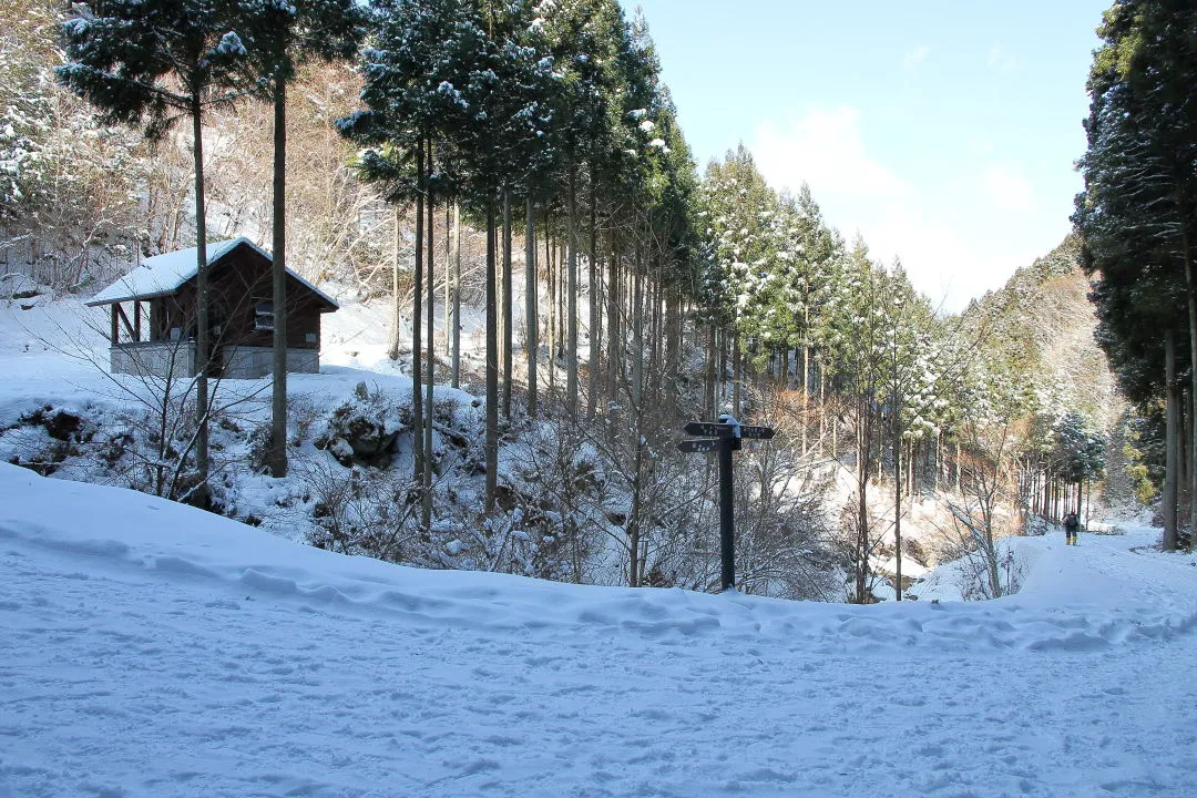
[[[269,388],[205,403],[145,383],[117,447],[79,407],[50,409],[89,434],[56,438],[31,398],[6,459],[346,553],[713,590],[713,462],[675,445],[730,413],[778,430],[736,455],[737,587],[862,603],[949,558],[974,564],[971,595],[1004,595],[1002,537],[1089,513],[1106,485],[1149,494],[1128,476],[1147,482],[1128,430],[1149,413],[1124,416],[1093,342],[1077,239],[944,313],[743,146],[695,164],[648,25],[614,0],[298,5],[354,54],[305,50],[311,19],[250,2],[142,63],[114,41],[165,16],[5,4],[0,262],[86,298],[198,238],[278,250],[285,207],[286,263],[341,313],[389,318],[391,364],[299,380],[248,420]]]

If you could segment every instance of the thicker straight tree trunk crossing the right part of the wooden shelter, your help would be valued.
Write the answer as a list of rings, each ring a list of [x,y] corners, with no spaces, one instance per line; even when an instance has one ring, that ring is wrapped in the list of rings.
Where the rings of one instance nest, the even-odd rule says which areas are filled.
[[[271,473],[287,475],[287,86],[274,80],[274,196],[272,200],[271,267],[274,303],[274,352],[271,385]]]

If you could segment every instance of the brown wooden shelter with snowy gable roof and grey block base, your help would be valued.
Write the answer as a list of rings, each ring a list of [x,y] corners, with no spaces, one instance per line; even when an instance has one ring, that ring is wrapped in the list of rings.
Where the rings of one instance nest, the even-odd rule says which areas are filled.
[[[272,372],[271,254],[248,238],[208,244],[208,373],[255,379]],[[114,373],[196,373],[195,248],[146,258],[87,305],[111,309]],[[338,304],[287,269],[287,371],[320,371],[320,318]]]

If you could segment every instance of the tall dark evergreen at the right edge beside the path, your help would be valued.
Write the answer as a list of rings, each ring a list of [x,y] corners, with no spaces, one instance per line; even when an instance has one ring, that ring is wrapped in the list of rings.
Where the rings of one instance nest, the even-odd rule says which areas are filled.
[[[1100,274],[1094,290],[1100,340],[1132,398],[1166,396],[1161,363],[1189,355],[1189,430],[1197,419],[1197,11],[1184,0],[1120,0],[1099,29],[1104,44],[1089,72],[1088,150],[1081,159],[1084,191],[1074,221],[1084,243],[1086,269]],[[1187,331],[1187,336],[1183,333]],[[1167,343],[1172,341],[1172,343]],[[1173,351],[1175,349],[1175,352]],[[1187,353],[1185,352],[1187,349]],[[1149,364],[1149,365],[1148,365]],[[1168,418],[1173,416],[1171,408]],[[1180,434],[1184,425],[1173,432]],[[1186,441],[1197,462],[1197,432]],[[1171,451],[1172,441],[1168,444]],[[1179,468],[1179,458],[1178,458]],[[1190,468],[1197,497],[1197,468]],[[1169,475],[1165,485],[1175,485]],[[1173,518],[1177,497],[1163,497]],[[1190,501],[1197,526],[1197,501]],[[1165,547],[1175,546],[1175,524]]]

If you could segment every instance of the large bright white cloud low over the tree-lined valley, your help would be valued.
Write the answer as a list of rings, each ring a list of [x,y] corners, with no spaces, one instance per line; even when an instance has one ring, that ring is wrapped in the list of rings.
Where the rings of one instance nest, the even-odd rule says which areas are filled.
[[[828,224],[849,240],[859,231],[887,266],[900,257],[915,287],[947,310],[1043,254],[1019,236],[1034,202],[1017,164],[943,164],[916,184],[869,151],[863,128],[856,108],[816,108],[761,124],[749,148],[771,185],[808,183]],[[962,209],[966,201],[976,207]]]

